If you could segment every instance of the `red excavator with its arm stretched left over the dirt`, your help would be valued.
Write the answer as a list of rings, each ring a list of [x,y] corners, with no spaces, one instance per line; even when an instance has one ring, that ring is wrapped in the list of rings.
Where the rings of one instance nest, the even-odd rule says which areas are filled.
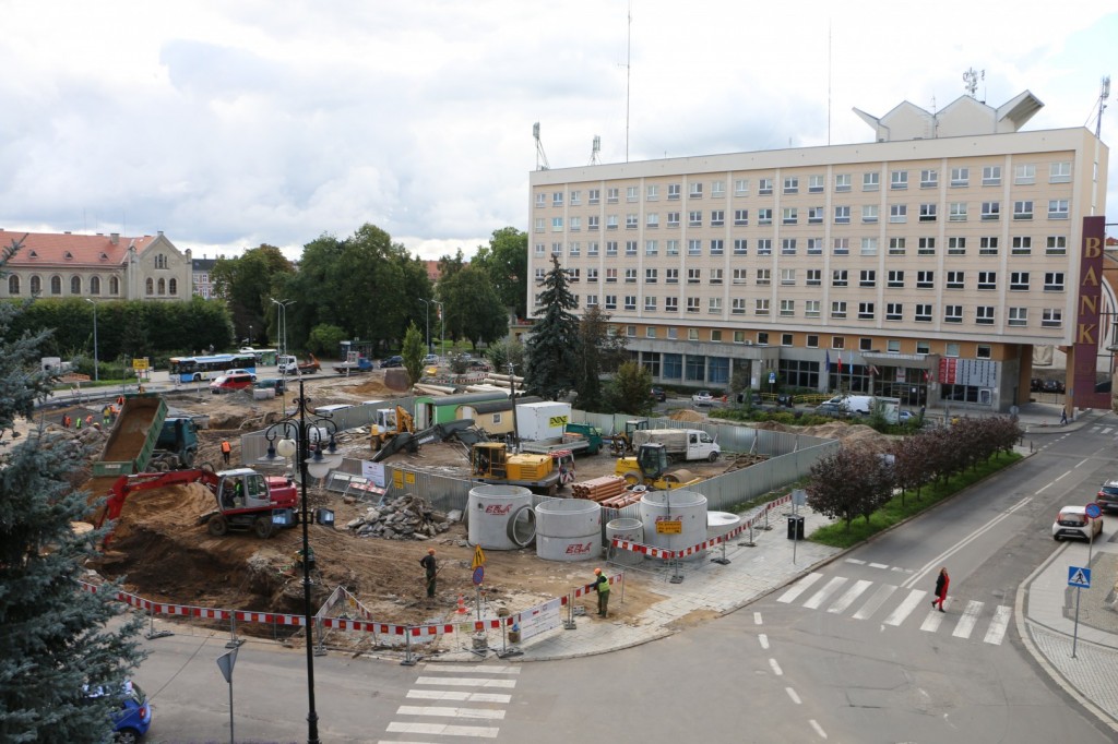
[[[111,488],[108,500],[94,524],[101,527],[105,519],[117,519],[124,502],[131,494],[150,488],[165,488],[198,483],[206,486],[217,500],[217,508],[198,517],[215,537],[230,530],[253,531],[267,540],[277,528],[292,527],[297,517],[299,492],[295,484],[283,476],[263,476],[250,468],[221,470],[172,470],[170,473],[141,473],[121,476]],[[105,538],[108,543],[108,537]]]

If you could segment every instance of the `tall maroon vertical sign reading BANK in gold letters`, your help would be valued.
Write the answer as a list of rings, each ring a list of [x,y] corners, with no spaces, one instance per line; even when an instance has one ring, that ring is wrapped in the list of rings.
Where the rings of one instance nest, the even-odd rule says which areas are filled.
[[[1079,252],[1079,288],[1076,296],[1076,337],[1072,342],[1072,388],[1069,399],[1080,408],[1110,408],[1110,393],[1095,392],[1095,370],[1101,327],[1102,246],[1106,217],[1083,218],[1083,241]]]

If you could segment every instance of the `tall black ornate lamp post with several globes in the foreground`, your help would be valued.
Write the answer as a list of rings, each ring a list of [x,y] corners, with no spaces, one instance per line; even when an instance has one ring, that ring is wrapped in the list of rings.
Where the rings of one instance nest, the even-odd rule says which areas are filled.
[[[303,381],[300,380],[295,411],[267,428],[265,437],[268,440],[268,454],[259,461],[271,465],[280,461],[281,458],[292,456],[299,458],[300,489],[303,500],[303,616],[306,623],[306,698],[309,705],[306,741],[307,744],[319,744],[319,714],[314,709],[314,618],[311,609],[311,563],[313,557],[309,532],[311,515],[306,503],[306,481],[310,477],[326,477],[332,468],[341,464],[342,456],[338,452],[338,446],[334,441],[338,426],[330,418],[322,416],[313,416],[307,421],[306,410],[310,402],[303,391]],[[323,429],[329,436],[326,445],[322,442]],[[312,438],[315,440],[313,452]],[[333,525],[333,513],[328,509],[319,509],[318,521],[320,524]]]

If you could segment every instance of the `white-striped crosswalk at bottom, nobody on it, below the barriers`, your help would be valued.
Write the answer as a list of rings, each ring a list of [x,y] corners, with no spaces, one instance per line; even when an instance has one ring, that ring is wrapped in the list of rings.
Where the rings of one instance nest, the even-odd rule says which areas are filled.
[[[433,742],[496,738],[519,674],[505,665],[425,665],[386,731]]]

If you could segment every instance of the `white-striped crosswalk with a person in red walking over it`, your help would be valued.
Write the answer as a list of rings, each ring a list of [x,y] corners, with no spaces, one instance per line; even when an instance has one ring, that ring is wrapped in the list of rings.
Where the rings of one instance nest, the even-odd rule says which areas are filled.
[[[961,639],[969,639],[982,626],[982,641],[994,646],[1005,640],[1013,613],[1012,608],[1003,604],[987,609],[985,602],[967,600],[964,603],[954,595],[948,595],[948,611],[944,613],[930,607],[931,594],[922,589],[904,590],[894,584],[851,580],[847,576],[823,579],[822,573],[812,572],[792,584],[776,601],[798,603],[807,610],[826,610],[831,614],[850,613],[854,620],[879,618],[883,626],[894,628],[912,621],[925,632],[944,630],[949,631],[953,638]]]

